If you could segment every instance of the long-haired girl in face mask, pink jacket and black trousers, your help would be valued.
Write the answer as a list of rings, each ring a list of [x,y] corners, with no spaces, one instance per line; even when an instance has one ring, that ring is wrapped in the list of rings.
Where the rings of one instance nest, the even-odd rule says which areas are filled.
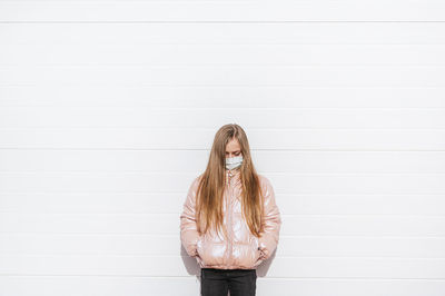
[[[181,244],[201,268],[201,295],[254,296],[256,268],[276,249],[280,225],[274,189],[256,172],[245,131],[222,126],[180,215]]]

